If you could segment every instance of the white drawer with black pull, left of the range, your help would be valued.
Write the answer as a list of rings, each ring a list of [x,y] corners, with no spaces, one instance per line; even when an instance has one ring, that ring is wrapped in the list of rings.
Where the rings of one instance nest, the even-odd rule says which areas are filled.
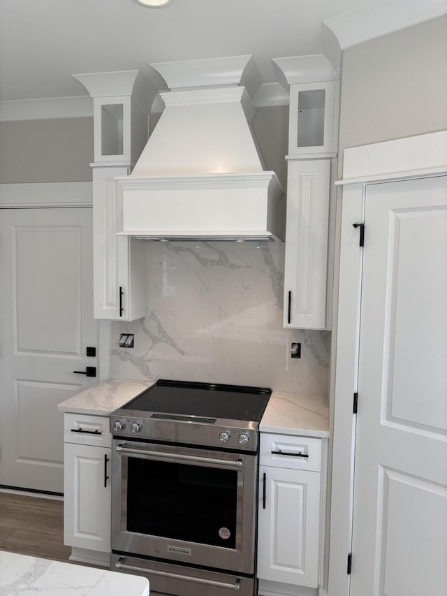
[[[64,442],[77,445],[112,446],[108,416],[64,415]]]

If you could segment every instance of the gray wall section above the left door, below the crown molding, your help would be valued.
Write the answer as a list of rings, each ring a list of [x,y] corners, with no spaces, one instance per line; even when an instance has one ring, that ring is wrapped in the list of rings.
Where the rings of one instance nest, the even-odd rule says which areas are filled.
[[[0,182],[91,180],[93,118],[0,122]]]

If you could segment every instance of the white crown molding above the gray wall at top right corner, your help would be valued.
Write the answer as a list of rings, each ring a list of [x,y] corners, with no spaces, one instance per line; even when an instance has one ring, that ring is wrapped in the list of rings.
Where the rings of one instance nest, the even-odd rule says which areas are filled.
[[[381,0],[323,21],[342,50],[447,14],[447,0]]]

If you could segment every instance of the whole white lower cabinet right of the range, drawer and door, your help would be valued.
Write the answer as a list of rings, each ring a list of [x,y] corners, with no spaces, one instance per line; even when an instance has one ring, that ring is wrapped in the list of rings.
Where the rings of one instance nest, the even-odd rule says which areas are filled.
[[[261,434],[260,460],[258,594],[313,594],[306,589],[320,585],[321,439]]]

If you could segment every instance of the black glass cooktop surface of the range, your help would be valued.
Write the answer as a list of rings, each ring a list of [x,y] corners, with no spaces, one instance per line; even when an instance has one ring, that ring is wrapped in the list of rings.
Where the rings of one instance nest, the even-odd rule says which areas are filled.
[[[259,422],[271,393],[260,387],[160,379],[122,409]]]

